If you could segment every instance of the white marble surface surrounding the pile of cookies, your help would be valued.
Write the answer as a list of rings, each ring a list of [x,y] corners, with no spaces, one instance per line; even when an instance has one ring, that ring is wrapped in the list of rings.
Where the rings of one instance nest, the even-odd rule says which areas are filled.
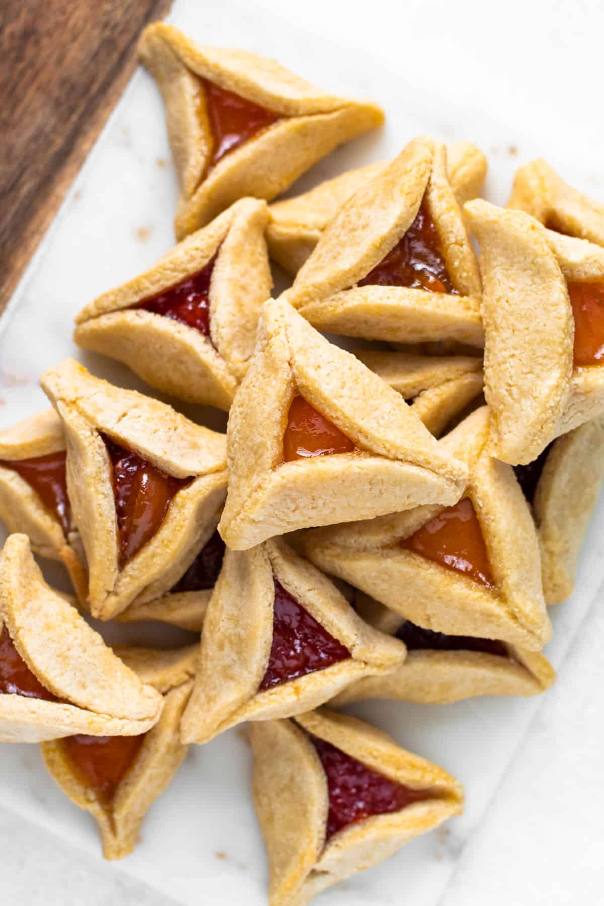
[[[496,9],[496,17],[495,17]],[[370,3],[177,0],[174,24],[199,41],[278,57],[334,92],[385,107],[385,130],[301,180],[393,156],[427,131],[488,154],[486,194],[504,202],[519,163],[540,154],[604,199],[598,0]],[[0,427],[45,405],[36,381],[74,353],[72,315],[173,244],[176,185],[158,93],[139,72],[76,180],[0,321]],[[128,371],[86,356],[124,386]],[[366,703],[356,713],[465,783],[446,830],[323,894],[324,906],[596,906],[604,900],[604,505],[592,520],[548,655],[561,673],[538,699],[439,708]],[[144,641],[136,628],[133,641]],[[264,851],[248,799],[241,733],[191,749],[122,863],[45,774],[37,747],[0,750],[0,903],[265,902]]]

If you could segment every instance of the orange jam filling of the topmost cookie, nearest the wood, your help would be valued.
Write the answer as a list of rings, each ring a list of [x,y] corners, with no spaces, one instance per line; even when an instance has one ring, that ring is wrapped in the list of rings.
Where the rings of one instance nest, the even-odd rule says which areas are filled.
[[[245,141],[268,129],[279,119],[278,114],[266,110],[254,101],[247,101],[235,92],[228,92],[214,82],[202,80],[206,92],[207,115],[214,135],[214,149],[210,167],[230,151],[241,147]]]

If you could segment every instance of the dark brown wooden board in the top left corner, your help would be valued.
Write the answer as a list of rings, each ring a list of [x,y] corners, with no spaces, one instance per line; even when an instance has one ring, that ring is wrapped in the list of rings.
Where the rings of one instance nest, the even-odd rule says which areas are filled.
[[[0,312],[171,0],[0,0]]]

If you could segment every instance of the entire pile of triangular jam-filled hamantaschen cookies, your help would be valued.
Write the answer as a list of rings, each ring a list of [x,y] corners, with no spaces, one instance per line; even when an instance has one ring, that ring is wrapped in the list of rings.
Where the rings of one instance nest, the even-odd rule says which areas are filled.
[[[0,432],[0,739],[41,745],[111,859],[187,747],[249,721],[270,901],[302,904],[463,806],[336,708],[555,678],[547,605],[604,470],[604,207],[543,160],[495,207],[482,152],[425,136],[267,205],[379,107],[165,24],[140,57],[180,242],[74,340],[227,432],[72,360],[41,379],[53,408]],[[87,613],[200,641],[111,649]]]

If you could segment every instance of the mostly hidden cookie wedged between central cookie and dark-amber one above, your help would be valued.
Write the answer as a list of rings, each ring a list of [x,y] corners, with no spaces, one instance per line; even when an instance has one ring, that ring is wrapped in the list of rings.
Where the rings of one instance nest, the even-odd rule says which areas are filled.
[[[436,438],[453,428],[455,419],[468,414],[469,407],[480,404],[483,362],[474,356],[372,350],[355,350],[354,354],[400,393]]]

